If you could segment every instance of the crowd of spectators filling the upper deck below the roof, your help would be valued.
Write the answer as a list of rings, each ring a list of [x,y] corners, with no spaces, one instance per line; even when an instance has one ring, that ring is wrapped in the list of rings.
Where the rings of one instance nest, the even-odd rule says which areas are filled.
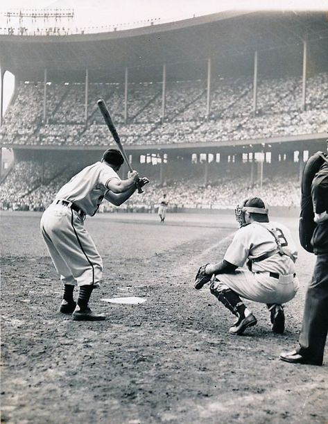
[[[252,81],[247,78],[213,80],[208,117],[205,80],[168,82],[164,118],[162,83],[129,83],[127,110],[123,84],[89,84],[87,121],[84,84],[49,83],[45,120],[43,93],[43,83],[19,84],[0,129],[1,144],[105,145],[108,132],[97,108],[99,98],[110,105],[126,144],[322,133],[328,125],[328,73],[308,78],[304,110],[301,78],[261,80],[255,115]]]

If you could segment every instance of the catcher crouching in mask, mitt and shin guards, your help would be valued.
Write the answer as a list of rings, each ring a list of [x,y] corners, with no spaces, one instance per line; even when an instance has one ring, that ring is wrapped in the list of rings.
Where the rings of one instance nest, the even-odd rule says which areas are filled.
[[[243,201],[235,210],[239,230],[217,264],[200,266],[195,289],[207,282],[211,293],[236,316],[231,334],[243,334],[257,324],[241,298],[266,303],[272,330],[284,332],[282,303],[293,299],[299,282],[295,272],[297,251],[291,232],[281,223],[270,222],[268,207],[261,198]],[[247,262],[248,269],[241,268]]]

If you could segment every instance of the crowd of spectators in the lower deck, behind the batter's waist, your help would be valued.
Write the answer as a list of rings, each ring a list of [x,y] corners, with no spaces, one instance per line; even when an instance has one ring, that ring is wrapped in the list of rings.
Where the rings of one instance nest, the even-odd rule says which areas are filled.
[[[78,166],[78,165],[76,165]],[[58,189],[78,171],[72,165],[58,162],[18,161],[10,171],[1,189],[1,209],[44,210],[55,198]],[[300,183],[297,176],[278,173],[273,178],[251,182],[250,175],[221,176],[204,185],[190,178],[166,180],[164,185],[152,180],[142,196],[132,196],[117,209],[103,202],[100,212],[141,210],[155,212],[163,194],[169,199],[169,209],[181,208],[225,209],[235,207],[241,198],[263,195],[271,206],[291,207],[300,203]]]

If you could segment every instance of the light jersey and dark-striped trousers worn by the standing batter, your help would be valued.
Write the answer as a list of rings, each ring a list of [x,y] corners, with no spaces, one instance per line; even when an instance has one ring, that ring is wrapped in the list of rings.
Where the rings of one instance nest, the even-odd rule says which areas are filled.
[[[42,214],[42,236],[65,285],[97,286],[101,281],[103,262],[84,221],[86,215],[96,214],[112,178],[120,179],[105,161],[86,167],[60,189]]]

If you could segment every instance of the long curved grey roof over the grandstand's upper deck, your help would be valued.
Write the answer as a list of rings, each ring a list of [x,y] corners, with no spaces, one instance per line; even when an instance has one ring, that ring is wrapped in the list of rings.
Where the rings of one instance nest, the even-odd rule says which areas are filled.
[[[252,69],[254,51],[267,55],[263,62],[268,69],[279,54],[290,67],[300,67],[307,40],[316,67],[328,69],[327,16],[318,11],[229,11],[109,33],[0,35],[0,66],[25,80],[42,80],[44,68],[49,80],[83,80],[87,68],[91,81],[119,82],[124,67],[131,69],[129,80],[160,80],[166,63],[168,78],[193,78],[206,75],[207,58],[220,71],[241,57],[246,71]]]

